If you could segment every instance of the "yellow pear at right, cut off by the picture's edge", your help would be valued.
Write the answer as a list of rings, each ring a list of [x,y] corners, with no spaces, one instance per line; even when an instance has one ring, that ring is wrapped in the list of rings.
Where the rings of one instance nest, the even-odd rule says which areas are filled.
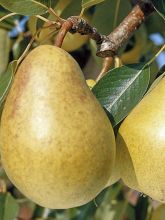
[[[165,78],[128,115],[117,137],[117,145],[119,143],[130,156],[130,160],[122,160],[127,172],[124,182],[130,186],[134,179],[135,187],[160,202],[165,202],[164,100]]]

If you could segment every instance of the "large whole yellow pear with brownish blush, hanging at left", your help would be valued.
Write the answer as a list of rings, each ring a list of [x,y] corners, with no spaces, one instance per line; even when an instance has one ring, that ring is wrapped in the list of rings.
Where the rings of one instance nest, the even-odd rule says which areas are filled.
[[[112,126],[76,61],[55,46],[37,47],[19,66],[0,135],[7,175],[44,207],[89,202],[113,169]]]

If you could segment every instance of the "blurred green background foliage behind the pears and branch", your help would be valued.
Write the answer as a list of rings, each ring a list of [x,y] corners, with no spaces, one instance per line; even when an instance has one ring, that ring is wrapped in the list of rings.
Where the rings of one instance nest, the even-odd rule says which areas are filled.
[[[35,35],[37,30],[40,30],[40,32],[35,35],[32,48],[40,44],[53,44],[57,34],[55,27],[50,26],[46,28],[47,24],[35,16],[35,14],[42,14],[42,10],[44,12],[45,9],[41,8],[40,10],[35,5],[32,5],[32,3],[25,5],[24,1],[22,1],[22,8],[16,5],[16,7],[11,10],[10,2],[11,1],[0,0],[0,18],[10,13],[10,11],[18,12],[20,15],[16,14],[0,22],[1,109],[6,91],[10,87],[10,82],[13,79],[12,68],[14,68],[14,63],[11,62],[21,56],[28,46],[31,37]],[[78,15],[83,6],[83,9],[86,9],[83,17],[103,34],[110,33],[136,3],[136,1],[131,0],[56,0],[40,2],[47,6],[51,4],[51,7],[53,7],[55,12],[62,18]],[[8,7],[10,11],[5,9]],[[50,20],[55,20],[49,13],[45,13],[42,16]],[[121,48],[119,56],[125,65],[139,62],[147,63],[164,43],[165,22],[157,12],[154,12],[146,19],[144,24],[141,25],[128,43]],[[63,48],[70,52],[77,60],[86,79],[96,78],[102,68],[103,59],[96,57],[96,44],[94,41],[88,39],[87,36],[68,33],[64,40]],[[165,60],[164,52],[150,65],[149,84],[160,75],[159,69],[163,65],[163,60]],[[114,73],[113,68],[114,66],[112,66],[112,73]],[[130,69],[128,69],[128,72],[129,71]],[[120,73],[122,74],[122,72]],[[133,74],[137,74],[137,71]],[[112,75],[109,77],[112,77]],[[130,75],[126,77],[130,77]],[[111,80],[113,79],[111,78]],[[98,98],[100,97],[99,89],[105,88],[105,86],[104,81],[96,87],[98,89],[94,89],[94,91],[96,90],[95,94],[96,96],[98,95]],[[115,89],[117,86],[119,87],[119,85],[116,85]],[[143,89],[146,91],[147,87],[148,84],[145,84]],[[142,90],[142,87],[139,87],[139,89]],[[131,93],[131,91],[129,91],[129,93]],[[139,91],[137,91],[137,93],[139,93]],[[140,99],[141,97],[138,98],[138,101]],[[104,103],[102,97],[100,101]],[[130,104],[128,107],[130,108]],[[107,110],[109,111],[108,108]],[[126,115],[127,113],[124,114]],[[116,124],[119,123],[125,115],[120,117],[119,115],[115,116]],[[160,205],[158,202],[152,201],[149,197],[127,188],[119,181],[111,187],[106,188],[94,201],[82,207],[68,210],[50,210],[42,208],[25,198],[9,181],[0,164],[0,220],[14,219],[164,220],[165,205]]]

